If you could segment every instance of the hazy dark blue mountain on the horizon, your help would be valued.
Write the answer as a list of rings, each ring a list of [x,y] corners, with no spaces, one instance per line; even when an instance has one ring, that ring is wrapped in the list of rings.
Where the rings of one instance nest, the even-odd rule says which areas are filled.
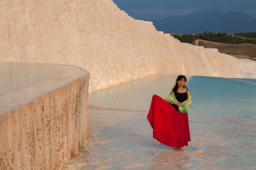
[[[256,19],[245,12],[199,10],[183,16],[152,20],[158,31],[166,33],[255,32]]]

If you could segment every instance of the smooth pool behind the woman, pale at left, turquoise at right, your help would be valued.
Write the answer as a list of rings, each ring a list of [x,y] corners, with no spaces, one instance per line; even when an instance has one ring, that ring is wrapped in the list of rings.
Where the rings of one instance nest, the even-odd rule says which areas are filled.
[[[166,98],[176,75],[152,75],[144,79],[111,87],[89,95],[90,102],[147,111],[151,97]],[[188,76],[186,84],[192,94],[191,114],[251,117],[256,115],[256,79],[228,79]]]

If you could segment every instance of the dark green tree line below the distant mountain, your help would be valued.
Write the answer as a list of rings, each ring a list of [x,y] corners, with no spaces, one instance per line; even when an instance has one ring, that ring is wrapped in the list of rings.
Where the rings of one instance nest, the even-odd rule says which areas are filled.
[[[229,35],[228,33],[213,33],[213,32],[203,32],[199,34],[183,34],[183,35],[172,35],[175,39],[180,40],[180,42],[192,43],[195,39],[207,40],[212,42],[228,43],[228,44],[256,44],[256,32],[247,33],[234,33],[234,35]],[[238,37],[240,36],[240,37]],[[243,39],[245,37],[247,39]]]

